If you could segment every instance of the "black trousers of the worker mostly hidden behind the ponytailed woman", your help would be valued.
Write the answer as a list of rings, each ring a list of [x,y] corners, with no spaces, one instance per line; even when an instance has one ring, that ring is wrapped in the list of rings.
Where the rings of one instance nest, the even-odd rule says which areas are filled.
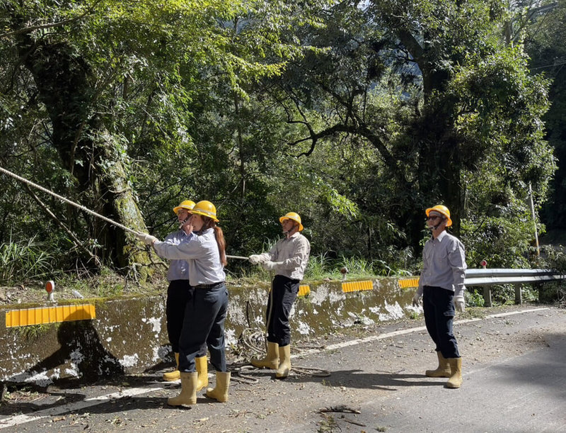
[[[194,291],[195,288],[190,286],[188,280],[173,280],[167,288],[165,303],[167,334],[171,348],[176,354],[179,353],[179,338],[185,319],[185,308]]]

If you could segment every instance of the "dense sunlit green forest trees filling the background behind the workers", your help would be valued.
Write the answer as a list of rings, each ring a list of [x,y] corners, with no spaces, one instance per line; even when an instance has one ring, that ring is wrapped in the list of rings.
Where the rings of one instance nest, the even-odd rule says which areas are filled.
[[[470,266],[523,266],[529,186],[538,209],[563,147],[536,69],[561,55],[559,3],[5,0],[0,164],[158,237],[207,199],[237,255],[293,210],[313,254],[384,270],[415,264],[444,203]],[[1,242],[33,233],[59,269],[153,269],[132,235],[4,184]]]

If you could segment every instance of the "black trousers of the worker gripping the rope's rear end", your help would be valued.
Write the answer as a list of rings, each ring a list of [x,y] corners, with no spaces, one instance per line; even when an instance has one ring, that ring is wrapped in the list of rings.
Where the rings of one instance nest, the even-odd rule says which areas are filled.
[[[291,342],[289,313],[299,293],[299,280],[276,275],[271,284],[270,298],[267,300],[267,341],[287,346]]]

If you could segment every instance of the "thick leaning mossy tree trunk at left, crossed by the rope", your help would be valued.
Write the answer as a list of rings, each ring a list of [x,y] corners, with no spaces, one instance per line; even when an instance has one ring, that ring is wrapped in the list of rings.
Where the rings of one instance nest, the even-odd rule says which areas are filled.
[[[146,231],[127,184],[127,156],[92,109],[95,89],[88,64],[66,43],[34,41],[27,34],[18,37],[18,52],[50,116],[52,145],[77,181],[79,193],[72,195],[117,223]],[[82,230],[88,230],[102,244],[104,254],[98,255],[107,262],[120,269],[149,263],[134,235],[90,215],[83,216],[87,224],[80,222]]]

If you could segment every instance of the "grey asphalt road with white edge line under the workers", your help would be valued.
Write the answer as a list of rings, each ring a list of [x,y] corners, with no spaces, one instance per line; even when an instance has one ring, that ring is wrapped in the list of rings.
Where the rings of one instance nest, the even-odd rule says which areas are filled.
[[[197,405],[168,407],[179,385],[157,372],[12,391],[0,405],[0,431],[566,432],[566,310],[468,310],[454,327],[463,358],[457,390],[424,376],[437,362],[432,342],[422,320],[402,320],[296,342],[303,350],[293,365],[330,376],[277,381],[264,370],[248,383],[234,364],[224,404],[200,393]]]

